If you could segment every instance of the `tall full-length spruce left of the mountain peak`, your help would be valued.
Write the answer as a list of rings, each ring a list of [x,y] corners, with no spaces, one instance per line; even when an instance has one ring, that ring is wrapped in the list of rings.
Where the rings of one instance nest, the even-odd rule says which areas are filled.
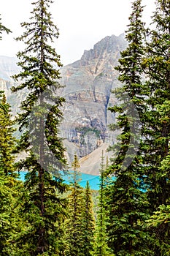
[[[51,3],[51,0],[32,3],[34,10],[30,22],[21,24],[25,32],[17,39],[23,41],[26,48],[18,53],[21,72],[14,78],[20,84],[12,91],[27,91],[18,115],[23,132],[18,150],[26,151],[27,157],[18,162],[18,170],[28,170],[20,208],[28,227],[16,238],[18,255],[57,255],[62,247],[60,223],[63,222],[66,200],[61,194],[66,191],[66,185],[59,172],[66,168],[66,159],[58,127],[64,99],[54,97],[60,88],[61,62],[60,56],[49,45],[58,38],[58,29],[48,11]],[[50,105],[54,101],[55,105]]]

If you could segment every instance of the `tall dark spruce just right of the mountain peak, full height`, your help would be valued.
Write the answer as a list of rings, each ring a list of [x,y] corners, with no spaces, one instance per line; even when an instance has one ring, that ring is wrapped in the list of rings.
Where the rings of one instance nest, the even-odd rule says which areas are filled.
[[[109,174],[115,176],[115,181],[107,189],[107,232],[109,247],[115,255],[121,256],[152,255],[146,248],[145,220],[148,204],[142,191],[142,142],[139,145],[138,134],[144,121],[144,97],[147,94],[145,85],[142,84],[141,64],[145,38],[142,11],[142,1],[134,1],[125,36],[128,48],[121,53],[119,65],[116,67],[120,72],[118,79],[123,83],[123,86],[115,91],[120,105],[111,108],[118,116],[117,125],[111,125],[110,128],[121,128],[121,133],[118,143],[113,147],[118,152],[117,157],[109,168]]]

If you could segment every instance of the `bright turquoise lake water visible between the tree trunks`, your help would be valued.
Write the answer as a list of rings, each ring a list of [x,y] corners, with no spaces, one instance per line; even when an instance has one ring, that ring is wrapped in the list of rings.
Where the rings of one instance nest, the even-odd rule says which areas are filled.
[[[80,181],[80,186],[85,187],[87,181],[90,184],[90,189],[98,190],[99,188],[99,176],[91,175],[91,174],[86,174],[86,173],[80,173],[81,176],[81,181]],[[24,181],[25,179],[26,172],[20,172],[20,180]],[[63,179],[65,180],[66,184],[69,184],[69,177],[70,176],[63,176]]]

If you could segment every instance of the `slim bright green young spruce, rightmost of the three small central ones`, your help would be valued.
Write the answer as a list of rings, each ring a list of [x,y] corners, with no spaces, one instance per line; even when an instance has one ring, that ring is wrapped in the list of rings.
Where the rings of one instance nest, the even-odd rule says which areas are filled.
[[[107,159],[108,165],[108,159]],[[104,196],[105,187],[105,176],[104,176],[104,156],[102,152],[101,156],[101,170],[100,170],[100,187],[99,187],[99,202],[98,202],[98,214],[96,222],[95,240],[93,242],[93,251],[91,255],[93,256],[113,256],[113,253],[109,249],[107,242],[107,213],[106,213],[106,200]],[[108,178],[107,178],[108,185]]]

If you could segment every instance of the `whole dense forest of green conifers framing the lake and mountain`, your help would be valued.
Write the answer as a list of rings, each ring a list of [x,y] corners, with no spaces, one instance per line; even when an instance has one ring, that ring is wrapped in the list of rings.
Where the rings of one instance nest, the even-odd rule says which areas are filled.
[[[0,91],[1,256],[170,255],[170,0],[155,1],[152,29],[142,21],[142,0],[131,6],[128,47],[115,67],[122,86],[112,91],[120,104],[109,109],[117,116],[109,129],[120,135],[109,146],[110,161],[100,156],[98,192],[88,182],[80,187],[76,154],[70,184],[63,180],[69,173],[59,135],[65,99],[56,94],[62,64],[52,46],[59,33],[49,12],[53,2],[32,3],[16,39],[25,49],[12,91],[27,95],[15,118]],[[10,32],[0,20],[0,39]],[[25,181],[18,178],[22,170]]]

